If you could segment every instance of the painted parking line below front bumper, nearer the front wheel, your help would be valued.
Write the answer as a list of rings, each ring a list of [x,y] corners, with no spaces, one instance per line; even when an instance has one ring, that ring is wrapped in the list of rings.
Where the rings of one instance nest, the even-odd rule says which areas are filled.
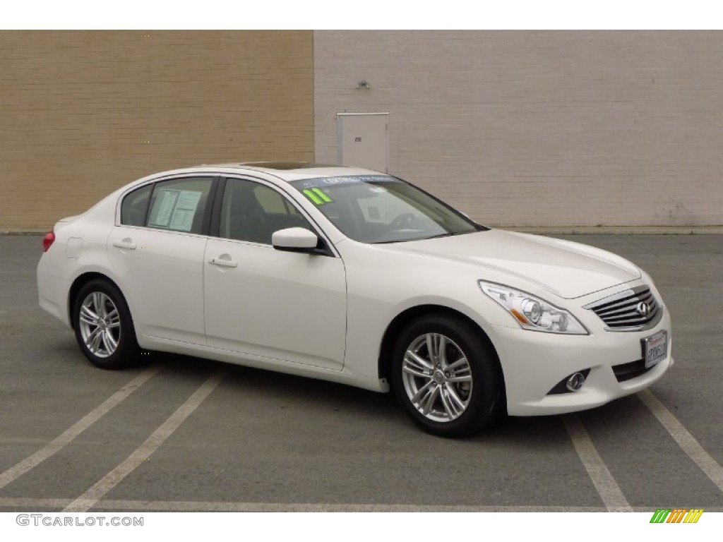
[[[563,416],[562,420],[605,507],[609,512],[632,512],[633,508],[630,507],[628,499],[625,499],[615,478],[607,470],[580,418],[568,414]]]

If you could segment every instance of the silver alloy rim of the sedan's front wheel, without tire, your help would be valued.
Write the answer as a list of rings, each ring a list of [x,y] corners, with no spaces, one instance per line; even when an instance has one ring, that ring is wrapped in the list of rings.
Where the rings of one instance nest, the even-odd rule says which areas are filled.
[[[453,421],[469,405],[471,366],[463,350],[445,335],[416,337],[404,354],[402,373],[411,404],[431,421]]]

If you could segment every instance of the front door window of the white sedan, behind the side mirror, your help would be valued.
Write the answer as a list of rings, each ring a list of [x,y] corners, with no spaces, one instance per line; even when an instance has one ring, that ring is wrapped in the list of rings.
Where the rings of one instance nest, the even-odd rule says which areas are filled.
[[[283,194],[253,181],[226,179],[221,203],[221,237],[270,245],[272,234],[285,228],[314,231]]]

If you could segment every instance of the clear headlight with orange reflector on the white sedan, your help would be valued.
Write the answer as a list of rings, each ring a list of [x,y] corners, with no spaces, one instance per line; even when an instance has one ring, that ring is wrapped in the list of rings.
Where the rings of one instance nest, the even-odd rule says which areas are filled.
[[[531,293],[484,280],[479,281],[479,288],[508,311],[525,330],[588,335],[585,326],[568,311]]]

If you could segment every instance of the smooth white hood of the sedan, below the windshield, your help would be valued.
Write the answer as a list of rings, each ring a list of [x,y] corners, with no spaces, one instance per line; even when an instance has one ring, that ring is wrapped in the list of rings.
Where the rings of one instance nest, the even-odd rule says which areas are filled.
[[[562,298],[576,298],[641,277],[628,260],[571,241],[502,230],[395,244],[404,252],[477,264],[521,278]],[[509,286],[515,287],[510,278]]]

